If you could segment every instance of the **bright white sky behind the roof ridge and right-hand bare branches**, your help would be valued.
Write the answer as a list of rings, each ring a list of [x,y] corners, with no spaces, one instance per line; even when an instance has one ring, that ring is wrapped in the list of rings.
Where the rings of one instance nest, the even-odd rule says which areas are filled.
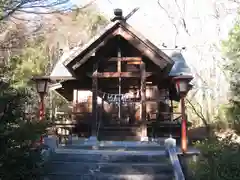
[[[71,0],[71,3],[81,7],[90,1],[92,0]],[[225,76],[219,68],[215,68],[215,64],[221,60],[221,52],[218,48],[213,48],[213,45],[218,47],[221,40],[228,37],[239,5],[226,0],[159,0],[161,5],[157,2],[157,0],[95,0],[99,11],[108,19],[114,16],[115,8],[121,8],[125,16],[134,8],[140,7],[127,20],[135,30],[161,50],[162,43],[169,49],[175,45],[186,47],[182,54],[194,73],[208,76],[204,72],[212,72],[215,69],[217,78],[213,79],[213,82],[209,80],[209,84],[216,89],[219,96],[227,92],[227,86],[220,88],[221,93],[217,92],[218,84],[225,83]],[[171,50],[163,51],[167,55],[171,54]],[[200,79],[198,86],[202,86]]]

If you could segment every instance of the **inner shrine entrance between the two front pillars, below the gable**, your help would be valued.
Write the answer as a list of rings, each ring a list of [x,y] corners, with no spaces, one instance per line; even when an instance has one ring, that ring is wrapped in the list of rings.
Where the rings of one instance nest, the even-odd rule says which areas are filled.
[[[136,124],[141,120],[141,113],[144,113],[142,100],[145,99],[146,87],[141,80],[141,68],[143,69],[145,64],[140,57],[121,57],[121,48],[118,48],[118,51],[118,57],[99,63],[96,77],[98,96],[106,102],[103,108],[108,114],[108,118],[103,118],[102,123]]]

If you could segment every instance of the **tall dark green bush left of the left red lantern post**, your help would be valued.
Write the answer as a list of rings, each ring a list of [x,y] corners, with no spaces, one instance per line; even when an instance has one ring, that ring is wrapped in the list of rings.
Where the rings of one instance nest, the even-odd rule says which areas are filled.
[[[41,173],[41,151],[34,144],[46,126],[26,118],[24,105],[28,99],[25,91],[9,86],[0,91],[1,180],[33,180]]]

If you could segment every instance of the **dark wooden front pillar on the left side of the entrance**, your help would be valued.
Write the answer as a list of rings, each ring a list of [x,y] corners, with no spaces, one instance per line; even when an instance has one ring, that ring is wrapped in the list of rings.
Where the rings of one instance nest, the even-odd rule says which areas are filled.
[[[97,64],[93,67],[93,76],[92,76],[92,122],[91,122],[91,136],[96,136],[97,131],[97,90],[98,90],[98,78],[97,78]]]

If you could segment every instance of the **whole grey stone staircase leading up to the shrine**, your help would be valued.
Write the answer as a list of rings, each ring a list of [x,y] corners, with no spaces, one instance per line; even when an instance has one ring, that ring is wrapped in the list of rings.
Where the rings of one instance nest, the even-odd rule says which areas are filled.
[[[140,142],[67,145],[45,165],[49,180],[172,180],[173,174],[164,146]]]

